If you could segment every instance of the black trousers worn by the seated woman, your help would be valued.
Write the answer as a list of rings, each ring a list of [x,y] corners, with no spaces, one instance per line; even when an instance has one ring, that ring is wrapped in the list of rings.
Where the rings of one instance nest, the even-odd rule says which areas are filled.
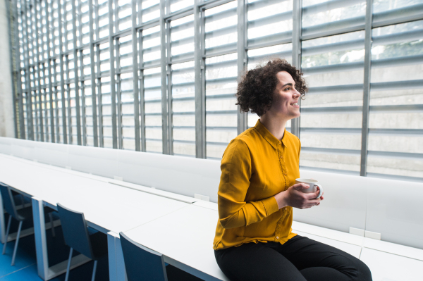
[[[247,243],[214,251],[231,281],[371,281],[372,273],[358,258],[297,235],[285,244]]]

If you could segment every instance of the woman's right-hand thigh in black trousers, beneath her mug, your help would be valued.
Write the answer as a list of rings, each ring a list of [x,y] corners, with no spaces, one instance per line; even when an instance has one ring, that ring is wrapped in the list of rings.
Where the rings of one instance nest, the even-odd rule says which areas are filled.
[[[326,270],[328,274],[341,273],[337,280],[372,280],[369,268],[355,256],[307,237],[293,237],[279,246],[278,252],[305,276],[310,271]]]

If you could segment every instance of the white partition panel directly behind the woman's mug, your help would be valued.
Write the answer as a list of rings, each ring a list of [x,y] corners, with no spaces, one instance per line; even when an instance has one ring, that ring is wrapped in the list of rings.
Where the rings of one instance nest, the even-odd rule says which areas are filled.
[[[343,232],[349,232],[350,227],[364,230],[367,186],[361,177],[304,169],[300,169],[300,175],[319,180],[324,189],[324,201],[312,208],[293,208],[294,220]]]

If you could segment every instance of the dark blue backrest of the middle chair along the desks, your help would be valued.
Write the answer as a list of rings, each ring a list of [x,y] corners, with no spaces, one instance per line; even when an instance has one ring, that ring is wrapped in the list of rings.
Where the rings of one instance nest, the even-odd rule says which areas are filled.
[[[59,211],[66,245],[84,254],[88,258],[94,258],[84,213],[73,211],[59,203],[57,204],[57,211]]]

